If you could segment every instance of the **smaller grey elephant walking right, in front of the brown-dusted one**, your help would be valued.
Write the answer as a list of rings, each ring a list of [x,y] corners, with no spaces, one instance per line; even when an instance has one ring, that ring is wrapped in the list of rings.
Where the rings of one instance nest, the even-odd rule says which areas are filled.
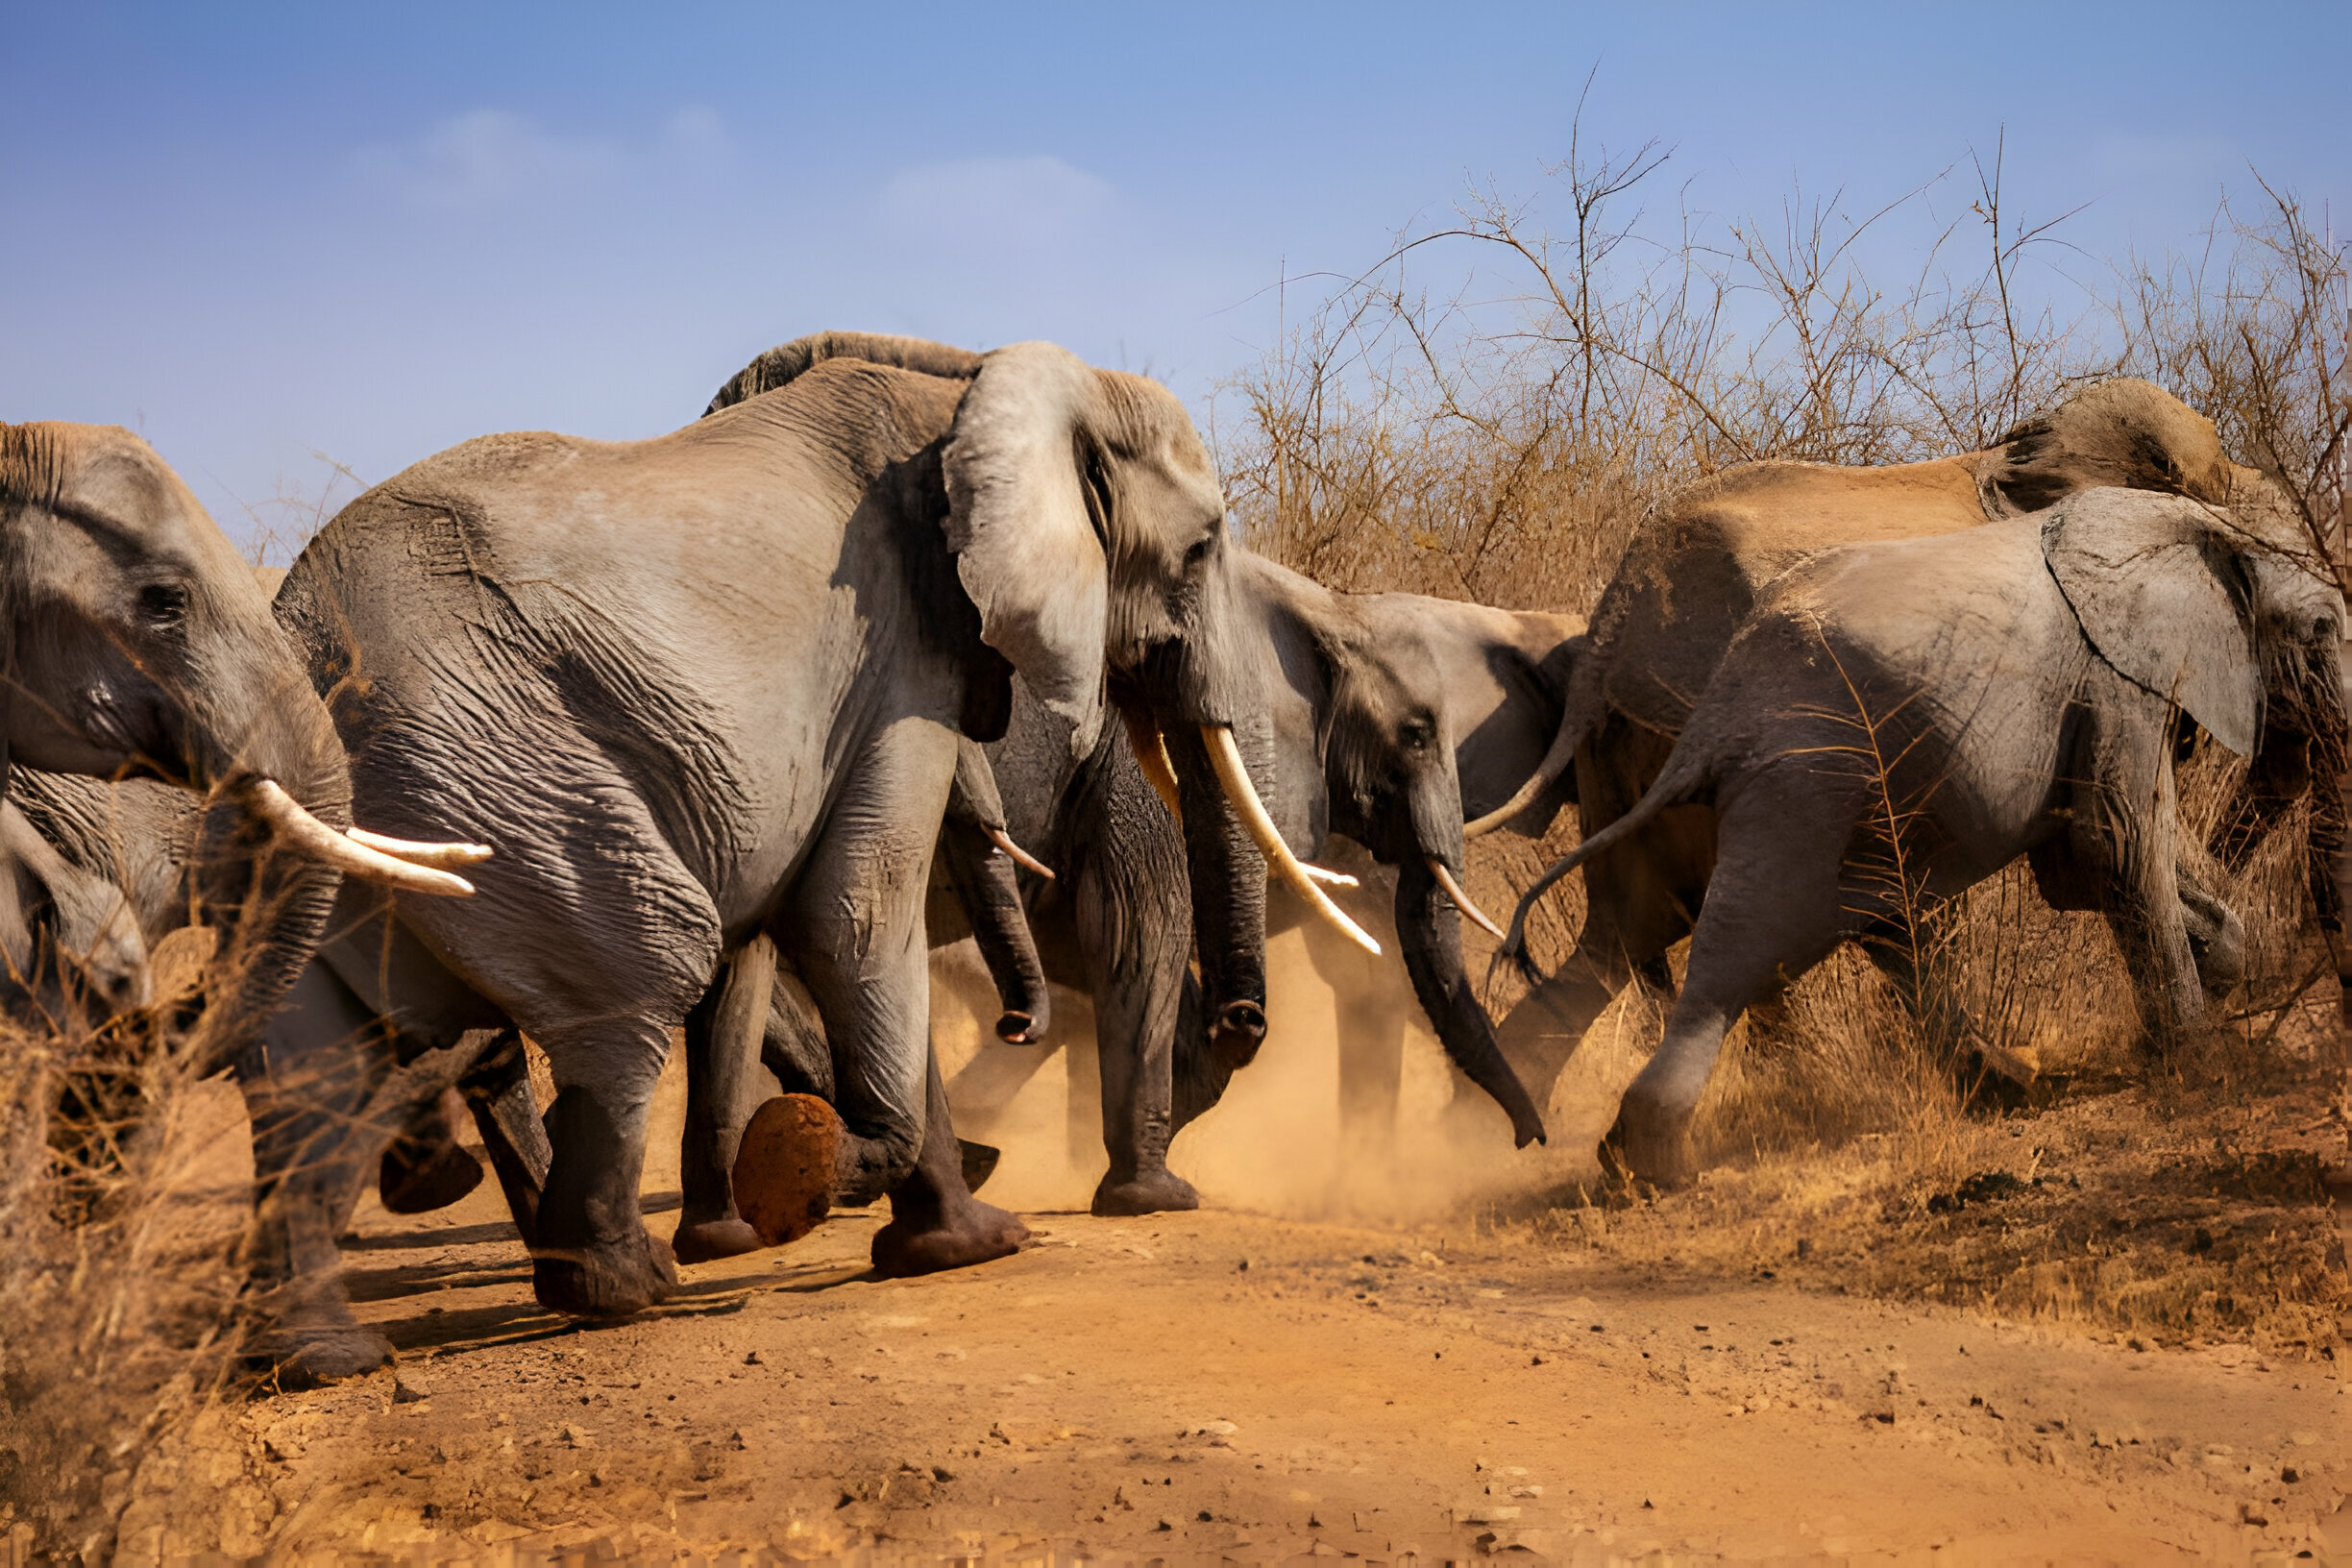
[[[2140,1020],[2204,1016],[2176,856],[2180,715],[2256,755],[2345,731],[2343,595],[2298,541],[2190,496],[2089,489],[1962,534],[1844,545],[1762,590],[1658,780],[1522,898],[1665,811],[1715,813],[1715,875],[1665,1039],[1604,1159],[1679,1187],[1740,1011],[1863,940],[1912,964],[1938,900],[2025,856],[2100,910]]]

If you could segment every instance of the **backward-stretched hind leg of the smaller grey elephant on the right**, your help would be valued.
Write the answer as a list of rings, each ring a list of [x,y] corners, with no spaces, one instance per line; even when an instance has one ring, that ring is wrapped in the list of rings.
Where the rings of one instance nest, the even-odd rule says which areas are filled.
[[[1853,813],[1799,766],[1764,769],[1724,806],[1722,858],[1691,933],[1682,994],[1665,1039],[1625,1088],[1604,1166],[1621,1161],[1656,1187],[1698,1178],[1691,1117],[1715,1074],[1724,1034],[1748,1004],[1825,959],[1851,914],[1839,863]]]

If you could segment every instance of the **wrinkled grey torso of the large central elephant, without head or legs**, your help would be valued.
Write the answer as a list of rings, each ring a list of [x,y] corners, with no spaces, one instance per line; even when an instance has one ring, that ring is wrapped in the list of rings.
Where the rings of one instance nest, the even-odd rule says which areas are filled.
[[[597,780],[717,891],[821,811],[781,757],[875,705],[955,724],[978,621],[920,498],[957,390],[828,362],[656,440],[482,437],[353,501],[278,609],[393,832],[560,820]],[[875,656],[903,679],[861,679]]]

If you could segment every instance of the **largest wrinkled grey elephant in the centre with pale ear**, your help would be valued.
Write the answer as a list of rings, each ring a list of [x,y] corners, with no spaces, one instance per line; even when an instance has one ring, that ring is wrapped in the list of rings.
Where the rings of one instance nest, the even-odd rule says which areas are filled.
[[[517,1032],[557,1086],[546,1182],[510,1187],[539,1298],[621,1316],[675,1288],[637,1218],[644,1112],[670,1030],[696,1046],[722,957],[757,936],[849,1067],[835,1194],[901,1182],[957,733],[997,733],[1014,670],[1082,733],[1105,672],[1171,733],[1247,719],[1223,602],[1223,498],[1183,409],[1049,346],[971,378],[828,360],[649,442],[487,437],[348,505],[278,607],[353,790],[383,832],[499,853],[461,910],[348,893],[273,1027],[273,1067],[310,1048],[343,1128],[301,1159],[306,1363],[383,1356],[334,1284],[329,1220],[381,1147],[358,1110],[428,1098]],[[1192,875],[1221,889],[1202,950],[1240,978],[1228,1004],[1263,1006],[1263,863],[1207,773],[1188,790]]]

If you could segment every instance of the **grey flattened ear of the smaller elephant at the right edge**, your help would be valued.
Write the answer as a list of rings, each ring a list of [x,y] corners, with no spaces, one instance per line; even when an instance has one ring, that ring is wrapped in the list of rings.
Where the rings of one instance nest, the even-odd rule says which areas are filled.
[[[2253,755],[2263,679],[2225,520],[2183,496],[2091,489],[2051,508],[2042,555],[2117,675]]]

